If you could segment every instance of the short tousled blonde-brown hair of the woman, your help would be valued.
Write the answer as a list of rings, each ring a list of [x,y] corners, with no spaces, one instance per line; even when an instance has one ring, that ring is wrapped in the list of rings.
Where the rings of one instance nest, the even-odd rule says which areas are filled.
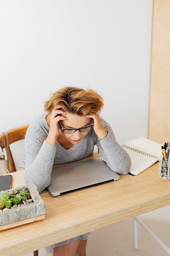
[[[85,116],[100,112],[103,98],[92,89],[64,87],[50,94],[49,100],[44,102],[45,112],[51,113],[56,105],[61,105],[64,111]]]

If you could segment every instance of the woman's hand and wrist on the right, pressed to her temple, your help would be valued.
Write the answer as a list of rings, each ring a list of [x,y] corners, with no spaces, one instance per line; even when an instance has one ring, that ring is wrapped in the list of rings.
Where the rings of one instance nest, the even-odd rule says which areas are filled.
[[[107,131],[103,128],[100,121],[99,113],[94,115],[86,115],[86,117],[93,118],[93,129],[99,139],[103,139],[107,136]]]

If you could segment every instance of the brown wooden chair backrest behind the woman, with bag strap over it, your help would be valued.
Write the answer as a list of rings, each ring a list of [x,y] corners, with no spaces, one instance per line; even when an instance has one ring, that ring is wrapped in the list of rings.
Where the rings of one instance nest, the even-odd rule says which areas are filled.
[[[29,124],[18,126],[16,128],[11,129],[11,130],[8,130],[7,133],[8,133],[9,145],[13,142],[24,139],[28,127],[29,127]],[[5,151],[6,151],[6,139],[5,139],[5,134],[4,133],[0,134],[0,146],[2,148],[5,148]],[[9,164],[10,164],[10,167],[11,167],[11,171],[15,172],[16,167],[15,167],[14,159],[13,159],[13,156],[12,156],[12,153],[11,153],[11,150],[10,150],[10,146],[9,146]]]

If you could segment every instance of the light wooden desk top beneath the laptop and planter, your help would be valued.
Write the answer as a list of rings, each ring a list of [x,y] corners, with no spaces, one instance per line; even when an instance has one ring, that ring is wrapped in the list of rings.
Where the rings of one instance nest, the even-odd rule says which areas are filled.
[[[88,159],[99,157],[97,153]],[[12,173],[13,185],[24,184],[24,170]],[[169,181],[158,177],[158,163],[120,180],[52,197],[45,189],[45,219],[2,230],[0,255],[20,256],[39,248],[123,221],[170,204]]]

